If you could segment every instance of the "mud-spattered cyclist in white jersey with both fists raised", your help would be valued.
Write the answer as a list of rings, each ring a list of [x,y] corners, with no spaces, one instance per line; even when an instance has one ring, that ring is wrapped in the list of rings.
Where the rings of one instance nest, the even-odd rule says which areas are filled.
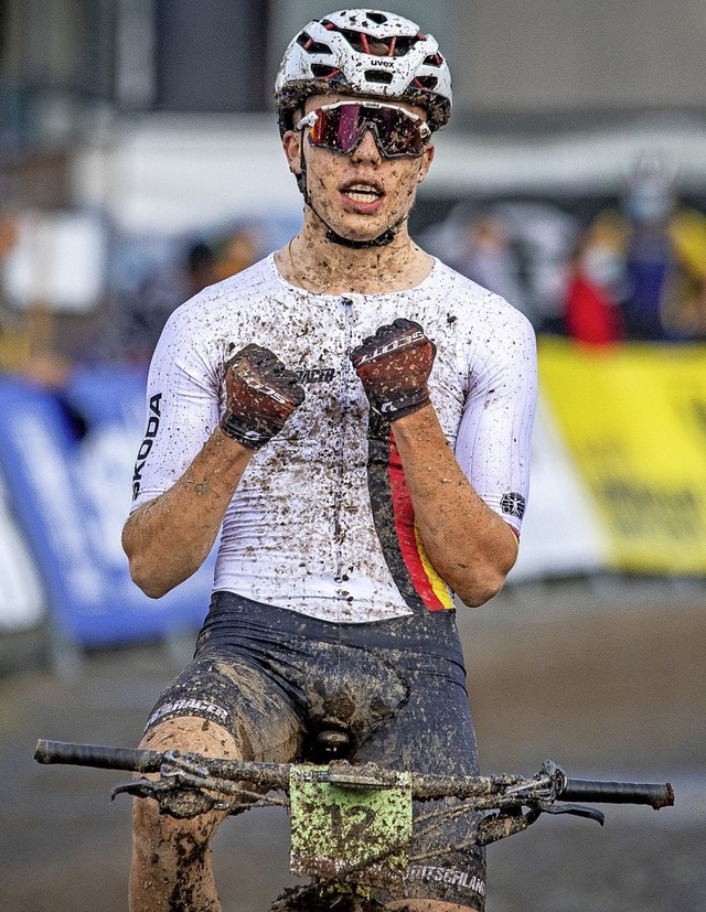
[[[533,332],[409,237],[451,109],[431,35],[382,11],[313,21],[276,104],[302,228],[178,309],[150,369],[133,579],[160,597],[221,538],[194,659],[142,745],[475,774],[451,593],[483,604],[516,558]],[[132,912],[220,909],[223,815],[136,805]],[[482,910],[483,856],[452,847],[467,829],[421,833],[431,860],[373,899]]]

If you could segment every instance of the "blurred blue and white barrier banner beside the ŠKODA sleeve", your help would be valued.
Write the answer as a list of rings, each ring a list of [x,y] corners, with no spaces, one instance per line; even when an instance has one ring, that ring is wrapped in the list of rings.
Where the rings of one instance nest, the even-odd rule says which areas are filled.
[[[52,621],[82,646],[192,630],[207,610],[213,555],[162,599],[146,597],[129,576],[120,535],[143,433],[143,376],[110,371],[78,371],[61,397],[0,382],[4,485]]]

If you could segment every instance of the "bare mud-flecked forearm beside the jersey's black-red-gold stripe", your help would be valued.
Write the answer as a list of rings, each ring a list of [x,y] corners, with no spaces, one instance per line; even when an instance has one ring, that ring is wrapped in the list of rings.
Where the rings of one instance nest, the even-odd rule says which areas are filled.
[[[392,429],[429,560],[461,601],[483,604],[515,562],[515,534],[461,471],[432,406]]]

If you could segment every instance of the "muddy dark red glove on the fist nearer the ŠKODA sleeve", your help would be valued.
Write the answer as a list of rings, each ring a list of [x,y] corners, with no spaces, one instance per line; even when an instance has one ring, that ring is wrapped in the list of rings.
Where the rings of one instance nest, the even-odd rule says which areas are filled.
[[[279,433],[304,400],[293,371],[288,371],[269,348],[255,344],[226,361],[225,390],[221,429],[250,450],[259,450]]]

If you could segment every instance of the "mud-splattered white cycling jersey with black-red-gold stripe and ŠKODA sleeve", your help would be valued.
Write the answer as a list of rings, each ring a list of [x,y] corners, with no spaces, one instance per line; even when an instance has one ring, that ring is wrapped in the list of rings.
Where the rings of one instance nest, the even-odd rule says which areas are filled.
[[[429,391],[462,471],[520,532],[536,400],[527,320],[439,260],[407,291],[333,296],[289,285],[270,255],[180,307],[149,374],[133,508],[167,491],[216,428],[232,354],[270,348],[306,389],[226,511],[214,589],[335,622],[452,607],[416,532],[389,426],[368,436],[349,357],[398,316],[437,345]]]

